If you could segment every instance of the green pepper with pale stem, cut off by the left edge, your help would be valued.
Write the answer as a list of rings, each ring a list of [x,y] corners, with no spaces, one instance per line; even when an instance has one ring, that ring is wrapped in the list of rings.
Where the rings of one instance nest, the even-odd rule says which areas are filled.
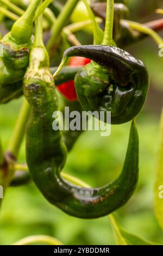
[[[0,103],[8,102],[19,95],[17,82],[22,80],[29,63],[29,52],[33,43],[33,18],[39,3],[40,0],[31,1],[26,12],[0,42],[3,52],[0,58]]]

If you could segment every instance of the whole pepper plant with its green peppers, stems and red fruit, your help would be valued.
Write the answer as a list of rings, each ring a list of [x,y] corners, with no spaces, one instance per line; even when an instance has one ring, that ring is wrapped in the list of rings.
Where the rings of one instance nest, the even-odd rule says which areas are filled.
[[[31,0],[27,6],[21,0],[0,3],[0,20],[10,27],[0,42],[0,103],[23,97],[7,149],[0,141],[0,185],[4,195],[0,205],[9,186],[34,182],[49,203],[68,215],[87,219],[108,215],[118,244],[156,244],[121,228],[113,212],[128,202],[141,172],[136,118],[141,115],[149,88],[146,65],[126,48],[147,36],[162,47],[163,40],[157,34],[163,28],[162,19],[145,24],[128,20],[127,0],[83,0],[89,19],[78,22],[71,22],[72,12],[81,3],[78,0],[67,0],[63,6],[55,0]],[[102,7],[102,13],[97,6]],[[77,33],[88,25],[92,32],[89,45],[82,44]],[[58,55],[60,64],[53,66]],[[64,113],[65,106],[80,113],[103,111],[105,122],[110,111],[112,129],[114,124],[131,123],[126,157],[115,181],[92,188],[61,172],[69,151],[83,133],[53,131],[52,114],[59,110]],[[55,116],[54,121],[60,119]],[[155,212],[161,227],[163,208],[158,187],[161,190],[163,184],[162,133],[161,118],[155,184]],[[18,153],[24,136],[27,163],[20,164]],[[43,235],[26,237],[15,244],[35,242],[62,244]]]

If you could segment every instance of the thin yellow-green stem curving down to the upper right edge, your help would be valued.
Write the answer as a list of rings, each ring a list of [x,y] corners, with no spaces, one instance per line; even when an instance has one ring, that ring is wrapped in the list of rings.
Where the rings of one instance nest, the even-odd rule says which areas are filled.
[[[126,22],[131,28],[135,29],[136,31],[139,31],[141,33],[151,36],[157,45],[160,45],[163,43],[163,39],[161,38],[161,36],[155,31],[153,31],[153,29],[148,28],[147,26],[134,21],[123,20],[123,22]]]

